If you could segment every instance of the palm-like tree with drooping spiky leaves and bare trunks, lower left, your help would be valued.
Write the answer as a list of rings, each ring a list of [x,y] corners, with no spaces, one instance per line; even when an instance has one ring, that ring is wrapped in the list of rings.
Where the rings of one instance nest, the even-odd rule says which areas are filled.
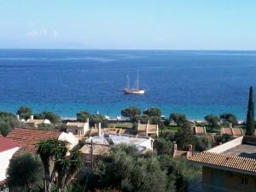
[[[56,180],[58,192],[64,191],[82,166],[79,148],[74,147],[67,154],[67,143],[48,139],[37,144],[38,154],[44,166],[44,190],[50,192]]]

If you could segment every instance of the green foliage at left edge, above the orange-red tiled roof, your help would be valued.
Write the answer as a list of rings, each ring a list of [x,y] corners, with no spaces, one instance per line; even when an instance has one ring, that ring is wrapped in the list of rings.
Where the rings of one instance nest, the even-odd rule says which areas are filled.
[[[18,123],[13,113],[0,112],[0,135],[7,136]]]

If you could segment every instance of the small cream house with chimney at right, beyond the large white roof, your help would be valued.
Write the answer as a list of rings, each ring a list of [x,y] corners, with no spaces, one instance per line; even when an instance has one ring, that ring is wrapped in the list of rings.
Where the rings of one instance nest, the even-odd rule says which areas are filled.
[[[86,122],[67,122],[67,133],[83,137],[89,131],[89,119]]]

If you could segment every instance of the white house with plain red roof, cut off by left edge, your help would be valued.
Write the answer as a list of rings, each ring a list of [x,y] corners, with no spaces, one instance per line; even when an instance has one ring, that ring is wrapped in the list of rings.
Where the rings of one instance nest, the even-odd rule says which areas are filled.
[[[0,191],[8,192],[6,185],[6,172],[9,167],[9,160],[19,150],[19,143],[9,138],[0,136]]]

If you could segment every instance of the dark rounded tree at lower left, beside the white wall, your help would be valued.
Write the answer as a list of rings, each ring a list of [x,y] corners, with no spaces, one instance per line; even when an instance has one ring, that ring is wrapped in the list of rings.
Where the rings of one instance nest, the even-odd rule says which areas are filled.
[[[43,167],[38,158],[32,154],[21,154],[10,160],[7,181],[10,188],[20,187],[30,192],[42,183],[42,171]]]

